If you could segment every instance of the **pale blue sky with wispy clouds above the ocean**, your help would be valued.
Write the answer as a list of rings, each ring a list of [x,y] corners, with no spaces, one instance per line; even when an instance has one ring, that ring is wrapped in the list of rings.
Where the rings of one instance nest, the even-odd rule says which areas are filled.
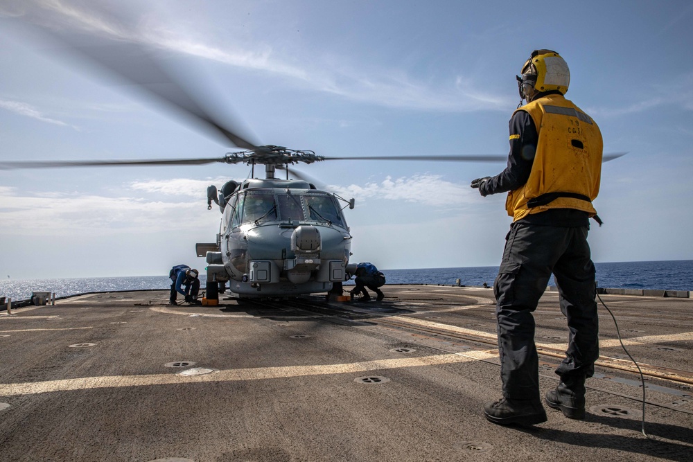
[[[693,259],[693,4],[285,0],[0,0],[0,161],[223,157],[202,132],[30,27],[138,42],[263,144],[326,157],[507,154],[515,75],[537,48],[570,66],[566,97],[604,152],[595,262]],[[356,199],[352,262],[493,266],[511,217],[472,179],[498,162],[325,161],[297,170]],[[0,170],[0,277],[203,268],[243,165]]]

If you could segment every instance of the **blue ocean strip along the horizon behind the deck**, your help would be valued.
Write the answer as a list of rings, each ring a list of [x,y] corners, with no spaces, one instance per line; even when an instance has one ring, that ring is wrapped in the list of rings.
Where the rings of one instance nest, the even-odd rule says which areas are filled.
[[[693,290],[693,260],[595,263],[597,285],[615,289]],[[498,266],[381,269],[388,284],[493,285]],[[202,288],[206,278],[200,274]],[[346,284],[349,285],[351,281]],[[554,285],[553,278],[549,285]],[[118,290],[168,289],[168,276],[111,278],[0,279],[0,297],[27,300],[31,292],[55,292],[55,296]]]

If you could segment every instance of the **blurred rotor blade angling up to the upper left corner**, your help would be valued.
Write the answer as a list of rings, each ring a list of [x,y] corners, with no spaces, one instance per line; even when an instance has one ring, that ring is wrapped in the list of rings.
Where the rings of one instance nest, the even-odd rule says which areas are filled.
[[[91,30],[81,25],[64,27],[65,19],[55,17],[55,12],[34,9],[25,15],[24,26],[36,31],[48,42],[59,45],[57,51],[67,51],[76,55],[82,62],[92,64],[96,69],[104,70],[108,75],[124,81],[129,87],[139,90],[157,103],[163,103],[167,109],[197,127],[207,136],[211,136],[224,145],[229,141],[238,148],[254,150],[261,143],[256,143],[249,136],[233,125],[223,123],[230,116],[228,109],[212,111],[211,105],[202,104],[202,94],[198,91],[187,91],[180,83],[182,73],[168,71],[162,64],[163,57],[172,56],[163,46],[145,44],[141,36],[119,24],[119,18],[113,12],[100,13],[103,27]],[[103,78],[102,78],[103,80]],[[207,98],[213,100],[216,98]],[[219,116],[218,114],[224,114]]]

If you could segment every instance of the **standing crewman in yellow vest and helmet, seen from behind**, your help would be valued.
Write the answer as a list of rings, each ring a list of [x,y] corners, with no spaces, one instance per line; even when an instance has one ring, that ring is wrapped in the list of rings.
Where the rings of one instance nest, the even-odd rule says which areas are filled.
[[[599,357],[595,265],[587,242],[592,201],[599,193],[602,134],[593,119],[565,99],[570,71],[551,50],[535,50],[517,76],[520,105],[510,119],[508,166],[477,178],[482,196],[508,193],[513,217],[493,290],[498,301],[498,349],[503,398],[484,407],[500,425],[546,421],[539,394],[534,317],[551,274],[568,319],[568,350],[556,368],[561,382],[547,406],[568,418],[585,416],[585,380]]]

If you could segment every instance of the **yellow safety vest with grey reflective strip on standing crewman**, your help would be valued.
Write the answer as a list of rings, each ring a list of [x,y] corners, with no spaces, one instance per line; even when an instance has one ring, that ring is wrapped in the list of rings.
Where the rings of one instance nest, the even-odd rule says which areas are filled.
[[[508,193],[513,221],[550,208],[576,208],[590,217],[602,175],[602,132],[563,95],[543,96],[518,111],[532,116],[538,143],[527,183]]]

